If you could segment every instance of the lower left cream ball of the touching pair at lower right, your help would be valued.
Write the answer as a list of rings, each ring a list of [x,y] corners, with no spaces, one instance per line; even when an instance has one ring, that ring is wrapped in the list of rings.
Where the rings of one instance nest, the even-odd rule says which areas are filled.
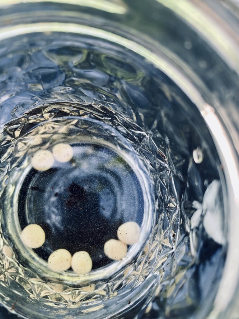
[[[104,253],[110,259],[120,260],[127,254],[127,245],[117,239],[110,239],[104,245]]]

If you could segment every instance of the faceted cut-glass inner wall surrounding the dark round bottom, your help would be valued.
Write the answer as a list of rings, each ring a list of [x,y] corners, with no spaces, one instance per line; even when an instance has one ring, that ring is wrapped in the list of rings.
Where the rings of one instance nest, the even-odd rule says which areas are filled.
[[[203,226],[206,208],[198,210],[208,186],[220,180],[220,161],[199,111],[177,85],[131,50],[57,32],[2,41],[0,79],[1,286],[56,309],[46,318],[75,318],[69,308],[78,316],[100,316],[119,300],[126,313],[135,309],[139,317],[184,318],[209,293],[213,297],[225,256]],[[140,250],[109,278],[70,282],[67,274],[59,280],[44,274],[44,263],[37,269],[36,257],[31,264],[16,248],[11,231],[17,228],[8,223],[16,224],[15,194],[33,152],[56,141],[80,140],[83,130],[87,140],[111,136],[110,145],[134,154],[131,167],[144,176],[151,224]],[[193,159],[197,148],[203,152],[200,163]],[[215,196],[222,207],[218,183]],[[11,247],[12,257],[3,254],[4,245]],[[1,297],[8,307],[15,302],[7,294]]]

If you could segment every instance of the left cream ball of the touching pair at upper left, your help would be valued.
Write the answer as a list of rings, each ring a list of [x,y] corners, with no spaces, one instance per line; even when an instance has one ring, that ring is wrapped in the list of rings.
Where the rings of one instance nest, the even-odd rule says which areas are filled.
[[[54,157],[50,151],[39,150],[35,152],[32,158],[32,166],[38,171],[47,171],[52,167]]]

